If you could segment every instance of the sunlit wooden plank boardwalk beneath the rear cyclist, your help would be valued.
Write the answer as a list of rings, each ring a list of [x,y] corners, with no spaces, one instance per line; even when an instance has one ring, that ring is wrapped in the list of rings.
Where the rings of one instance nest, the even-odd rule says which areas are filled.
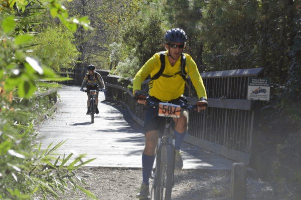
[[[90,123],[86,115],[87,95],[78,86],[63,86],[59,91],[55,113],[37,126],[38,139],[46,148],[67,140],[57,151],[76,157],[86,154],[85,159],[96,158],[86,166],[141,167],[144,146],[142,127],[135,124],[126,112],[120,112],[105,101],[99,93],[99,114]],[[186,142],[183,168],[231,169],[233,161]]]

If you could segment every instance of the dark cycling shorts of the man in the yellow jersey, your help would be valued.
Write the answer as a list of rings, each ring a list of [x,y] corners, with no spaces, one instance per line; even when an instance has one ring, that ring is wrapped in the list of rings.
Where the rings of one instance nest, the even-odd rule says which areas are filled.
[[[147,96],[147,100],[162,102],[158,98],[154,96]],[[184,105],[187,103],[185,97],[180,96],[179,98],[173,99],[169,101],[170,103],[177,104],[177,105]],[[164,122],[165,117],[158,115],[159,108],[158,107],[146,107],[145,109],[145,117],[144,117],[144,134],[150,130],[160,130],[161,132],[164,131]]]

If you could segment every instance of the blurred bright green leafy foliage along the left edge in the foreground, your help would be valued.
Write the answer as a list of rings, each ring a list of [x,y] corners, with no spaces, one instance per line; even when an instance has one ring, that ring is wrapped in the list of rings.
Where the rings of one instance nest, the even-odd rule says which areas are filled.
[[[11,3],[11,4],[10,4]],[[57,0],[3,1],[0,4],[0,198],[32,199],[40,195],[58,197],[67,183],[84,191],[76,182],[74,170],[93,160],[82,162],[84,155],[56,157],[55,150],[64,141],[47,149],[35,141],[33,119],[45,109],[45,100],[35,99],[41,80],[60,80],[55,72],[30,56],[35,37],[36,15],[51,10],[54,17],[74,30],[85,19],[73,20]],[[86,27],[87,28],[87,27]],[[36,103],[39,105],[36,106]]]

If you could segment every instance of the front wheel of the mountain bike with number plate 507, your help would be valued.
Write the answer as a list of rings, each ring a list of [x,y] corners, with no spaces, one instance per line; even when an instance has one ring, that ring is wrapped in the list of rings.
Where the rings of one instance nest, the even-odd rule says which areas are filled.
[[[161,152],[160,152],[161,151]],[[175,151],[171,144],[163,144],[157,154],[155,200],[170,200],[174,184]]]

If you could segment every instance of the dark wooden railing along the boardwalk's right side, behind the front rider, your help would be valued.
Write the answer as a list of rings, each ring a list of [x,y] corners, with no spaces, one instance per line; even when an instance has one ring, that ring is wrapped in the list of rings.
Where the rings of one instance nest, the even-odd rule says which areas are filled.
[[[79,70],[78,70],[79,71]],[[74,73],[75,85],[80,85],[83,75]],[[131,79],[119,80],[119,76],[108,75],[107,71],[99,71],[106,83],[106,99],[123,104],[132,118],[143,125],[144,110],[136,106],[129,87]],[[259,77],[263,68],[211,71],[201,74],[209,100],[208,109],[204,112],[189,112],[188,134],[185,141],[211,150],[235,161],[249,163],[250,148],[254,122],[254,101],[247,99],[248,77]],[[80,76],[80,79],[76,77]],[[145,80],[142,90],[147,91]],[[189,81],[185,95],[191,103],[197,98]]]

